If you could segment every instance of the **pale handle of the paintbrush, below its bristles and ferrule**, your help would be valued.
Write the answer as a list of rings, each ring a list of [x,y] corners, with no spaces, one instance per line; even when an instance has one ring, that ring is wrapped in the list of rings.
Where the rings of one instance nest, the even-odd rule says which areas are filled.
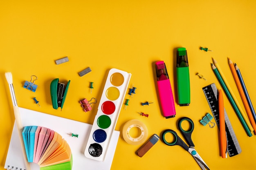
[[[16,125],[18,128],[18,134],[19,134],[20,144],[21,144],[21,148],[22,148],[22,152],[23,152],[23,158],[24,158],[25,165],[27,167],[26,170],[31,170],[30,163],[27,161],[25,145],[24,145],[24,141],[23,141],[23,137],[22,137],[23,126],[22,126],[22,122],[21,122],[21,118],[20,118],[20,110],[19,110],[18,106],[13,106],[13,111],[14,111],[14,116],[15,116],[15,120],[16,120]]]

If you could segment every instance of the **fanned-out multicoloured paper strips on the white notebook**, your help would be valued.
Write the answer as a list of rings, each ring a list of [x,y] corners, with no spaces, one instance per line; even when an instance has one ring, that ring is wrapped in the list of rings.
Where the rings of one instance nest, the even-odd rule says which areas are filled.
[[[28,162],[40,170],[72,170],[72,153],[67,141],[49,128],[25,126],[22,132]]]

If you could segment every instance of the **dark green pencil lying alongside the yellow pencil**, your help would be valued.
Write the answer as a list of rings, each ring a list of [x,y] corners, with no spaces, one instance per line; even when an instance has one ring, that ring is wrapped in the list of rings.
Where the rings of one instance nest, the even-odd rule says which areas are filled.
[[[233,106],[234,110],[236,111],[236,114],[238,115],[238,117],[239,117],[239,119],[240,119],[242,125],[244,126],[245,131],[247,132],[247,135],[248,135],[249,137],[252,137],[252,133],[251,133],[251,131],[250,131],[248,125],[246,124],[245,119],[244,119],[243,116],[242,116],[242,113],[241,113],[240,110],[238,109],[238,106],[236,105],[236,103],[235,103],[235,101],[234,101],[234,98],[233,98],[232,95],[230,94],[229,89],[227,88],[225,82],[223,81],[223,79],[222,79],[222,77],[221,77],[221,75],[220,75],[220,73],[219,73],[219,71],[218,71],[218,68],[216,68],[216,66],[214,66],[214,64],[212,64],[212,63],[211,63],[211,67],[212,67],[213,72],[215,73],[217,79],[219,80],[219,82],[220,82],[222,88],[224,89],[225,93],[227,94],[227,97],[229,98],[229,101],[230,101],[231,105]]]

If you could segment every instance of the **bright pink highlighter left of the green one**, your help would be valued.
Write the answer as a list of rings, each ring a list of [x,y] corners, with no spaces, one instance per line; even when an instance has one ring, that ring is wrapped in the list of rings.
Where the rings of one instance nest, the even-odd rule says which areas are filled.
[[[173,99],[173,91],[164,61],[156,62],[155,68],[157,72],[157,87],[163,115],[166,119],[175,117],[176,111]]]

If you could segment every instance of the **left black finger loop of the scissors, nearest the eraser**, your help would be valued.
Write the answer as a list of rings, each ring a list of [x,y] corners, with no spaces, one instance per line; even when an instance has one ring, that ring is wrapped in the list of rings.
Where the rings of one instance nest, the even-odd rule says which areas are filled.
[[[165,139],[165,135],[167,133],[171,133],[173,134],[174,140],[173,142],[168,142]],[[185,150],[189,150],[189,147],[184,143],[184,141],[182,141],[182,139],[180,139],[180,137],[177,135],[177,133],[174,130],[171,129],[166,129],[162,132],[162,141],[164,142],[164,144],[168,145],[168,146],[174,146],[174,145],[180,145],[182,146]]]

